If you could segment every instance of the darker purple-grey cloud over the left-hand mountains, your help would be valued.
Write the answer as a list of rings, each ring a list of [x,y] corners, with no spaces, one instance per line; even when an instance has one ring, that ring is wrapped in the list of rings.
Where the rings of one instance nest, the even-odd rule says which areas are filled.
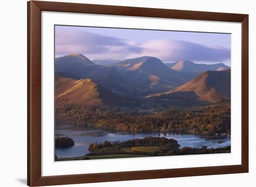
[[[126,54],[141,53],[137,43],[81,30],[56,30],[55,53],[83,53],[90,59],[122,59]]]

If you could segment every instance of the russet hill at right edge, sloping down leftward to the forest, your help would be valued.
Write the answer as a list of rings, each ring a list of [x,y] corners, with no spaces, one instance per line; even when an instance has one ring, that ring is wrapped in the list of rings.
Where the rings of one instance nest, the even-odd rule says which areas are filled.
[[[230,69],[224,71],[206,71],[180,87],[149,97],[206,101],[228,99],[231,94],[230,79]]]

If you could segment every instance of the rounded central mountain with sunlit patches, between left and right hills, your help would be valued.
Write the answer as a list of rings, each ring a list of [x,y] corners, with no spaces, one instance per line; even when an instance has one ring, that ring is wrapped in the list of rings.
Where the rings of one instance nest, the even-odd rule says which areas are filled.
[[[162,89],[164,86],[173,87],[188,80],[181,73],[166,67],[158,58],[150,56],[123,60],[112,67],[115,67],[134,87]]]

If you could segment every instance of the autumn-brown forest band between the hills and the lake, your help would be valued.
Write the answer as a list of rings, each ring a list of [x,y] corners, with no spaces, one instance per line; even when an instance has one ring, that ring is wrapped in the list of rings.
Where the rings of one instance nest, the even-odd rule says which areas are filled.
[[[64,105],[56,119],[70,124],[133,132],[230,134],[230,104],[176,107],[158,112],[127,112],[119,108]]]

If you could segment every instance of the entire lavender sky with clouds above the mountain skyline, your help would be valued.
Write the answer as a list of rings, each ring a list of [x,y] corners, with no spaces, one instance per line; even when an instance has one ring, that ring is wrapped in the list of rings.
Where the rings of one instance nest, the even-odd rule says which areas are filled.
[[[55,57],[81,53],[90,60],[154,56],[230,66],[231,34],[105,27],[55,26]]]

